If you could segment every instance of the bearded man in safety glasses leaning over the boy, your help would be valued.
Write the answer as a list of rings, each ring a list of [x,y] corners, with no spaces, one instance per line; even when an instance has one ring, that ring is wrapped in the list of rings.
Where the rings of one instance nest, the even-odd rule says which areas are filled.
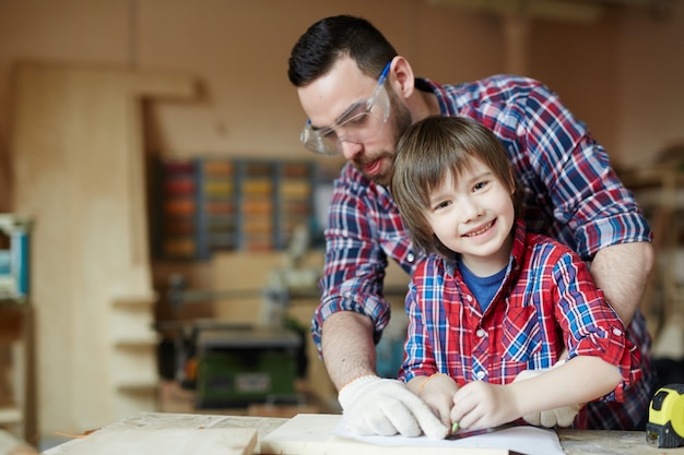
[[[431,115],[469,117],[491,129],[521,183],[528,229],[590,262],[597,286],[641,349],[644,374],[624,404],[590,403],[589,427],[644,424],[656,386],[638,311],[653,263],[650,228],[603,147],[554,93],[515,76],[459,85],[416,79],[379,31],[346,15],[309,27],[292,50],[288,76],[308,116],[304,145],[349,160],[335,180],[312,335],[353,431],[436,438],[446,431],[403,384],[375,372],[375,343],[390,316],[382,297],[387,260],[411,274],[423,255],[387,189],[394,147],[410,124]]]

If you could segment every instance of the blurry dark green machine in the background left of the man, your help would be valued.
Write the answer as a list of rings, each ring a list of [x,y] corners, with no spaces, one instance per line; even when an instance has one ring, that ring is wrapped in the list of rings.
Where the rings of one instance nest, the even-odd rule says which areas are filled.
[[[202,330],[197,338],[197,407],[297,402],[300,337],[286,328]]]

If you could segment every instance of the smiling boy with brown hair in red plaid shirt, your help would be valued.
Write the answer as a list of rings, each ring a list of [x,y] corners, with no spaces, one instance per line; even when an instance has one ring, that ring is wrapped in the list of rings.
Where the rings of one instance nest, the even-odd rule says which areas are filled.
[[[400,379],[443,423],[480,429],[621,400],[639,379],[639,352],[585,263],[526,231],[510,161],[490,130],[459,117],[414,123],[398,144],[391,192],[428,254],[406,296]],[[567,361],[550,368],[566,347]]]

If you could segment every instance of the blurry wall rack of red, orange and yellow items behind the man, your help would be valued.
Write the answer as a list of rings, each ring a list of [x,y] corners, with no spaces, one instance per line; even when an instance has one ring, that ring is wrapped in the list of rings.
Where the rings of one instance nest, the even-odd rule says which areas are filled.
[[[310,226],[321,172],[314,160],[197,157],[161,160],[155,253],[208,260],[231,250],[284,250]]]

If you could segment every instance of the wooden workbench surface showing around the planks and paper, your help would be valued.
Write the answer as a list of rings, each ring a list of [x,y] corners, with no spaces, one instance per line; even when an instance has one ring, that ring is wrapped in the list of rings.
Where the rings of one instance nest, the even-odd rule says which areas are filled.
[[[126,431],[130,429],[169,430],[169,429],[255,429],[258,440],[273,432],[288,419],[273,417],[214,416],[193,414],[141,412],[133,417],[114,422],[107,430]],[[581,431],[558,430],[563,450],[568,455],[683,455],[682,448],[659,450],[646,444],[640,431]],[[86,439],[75,439],[44,452],[44,455],[71,455],[80,452],[78,447]],[[255,453],[260,453],[259,444]]]

